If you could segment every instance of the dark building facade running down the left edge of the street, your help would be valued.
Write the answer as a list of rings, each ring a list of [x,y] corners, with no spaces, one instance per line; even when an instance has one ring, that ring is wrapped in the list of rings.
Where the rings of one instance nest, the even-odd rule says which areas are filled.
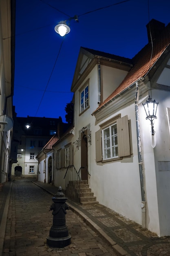
[[[0,184],[9,178],[13,141],[13,82],[15,56],[15,0],[0,1]],[[0,185],[1,187],[1,185]]]

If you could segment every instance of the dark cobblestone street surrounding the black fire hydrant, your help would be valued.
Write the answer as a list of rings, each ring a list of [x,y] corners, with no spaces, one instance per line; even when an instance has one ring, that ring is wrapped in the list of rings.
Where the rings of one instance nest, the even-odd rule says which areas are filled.
[[[71,210],[66,214],[71,245],[61,249],[46,245],[53,220],[51,198],[30,180],[13,182],[2,256],[118,255]]]

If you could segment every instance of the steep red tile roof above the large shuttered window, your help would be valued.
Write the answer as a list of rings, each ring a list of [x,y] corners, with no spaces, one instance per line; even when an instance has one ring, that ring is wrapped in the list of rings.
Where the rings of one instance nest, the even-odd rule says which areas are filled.
[[[134,84],[139,78],[146,76],[168,45],[170,45],[170,23],[160,32],[159,36],[157,36],[152,43],[149,42],[137,55],[135,55],[135,57],[132,58],[133,67],[130,69],[124,80],[117,89],[102,102],[93,114],[100,110],[100,108],[110,100],[126,90],[130,85]]]

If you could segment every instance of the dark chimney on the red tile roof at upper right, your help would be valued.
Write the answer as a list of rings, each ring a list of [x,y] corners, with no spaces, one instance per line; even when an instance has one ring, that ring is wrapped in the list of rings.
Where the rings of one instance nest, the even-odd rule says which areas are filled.
[[[160,32],[165,28],[165,23],[152,19],[146,25],[146,28],[148,32],[148,41],[151,42],[151,36],[152,36],[152,40],[154,40],[157,36],[159,36]]]

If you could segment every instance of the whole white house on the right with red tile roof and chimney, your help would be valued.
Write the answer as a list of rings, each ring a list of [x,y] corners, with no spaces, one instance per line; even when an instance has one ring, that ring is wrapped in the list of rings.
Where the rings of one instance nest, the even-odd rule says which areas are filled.
[[[80,48],[74,124],[53,145],[54,184],[65,186],[75,168],[99,203],[169,236],[170,24],[146,27],[148,44],[132,59]],[[143,106],[150,100],[152,123]]]

